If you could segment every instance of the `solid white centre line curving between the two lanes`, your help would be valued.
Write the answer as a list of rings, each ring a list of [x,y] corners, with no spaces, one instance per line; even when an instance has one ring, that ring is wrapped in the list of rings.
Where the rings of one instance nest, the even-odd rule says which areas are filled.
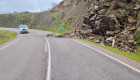
[[[49,41],[46,37],[44,37],[46,42],[47,42],[47,46],[48,46],[48,71],[47,71],[47,78],[46,80],[51,80],[51,50],[50,50],[50,44]]]

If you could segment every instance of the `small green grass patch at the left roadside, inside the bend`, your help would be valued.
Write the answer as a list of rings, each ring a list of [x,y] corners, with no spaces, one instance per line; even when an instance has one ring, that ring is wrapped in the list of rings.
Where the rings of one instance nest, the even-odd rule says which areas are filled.
[[[14,37],[16,37],[16,32],[0,30],[0,44],[13,39]]]

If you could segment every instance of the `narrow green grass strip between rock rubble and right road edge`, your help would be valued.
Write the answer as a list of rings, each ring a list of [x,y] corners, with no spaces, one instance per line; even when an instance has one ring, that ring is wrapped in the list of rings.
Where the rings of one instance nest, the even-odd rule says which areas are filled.
[[[138,47],[138,50],[137,50],[136,53],[128,53],[128,52],[121,51],[117,48],[111,47],[111,46],[104,46],[104,45],[97,44],[97,43],[94,43],[94,42],[91,42],[91,41],[88,41],[88,40],[85,40],[85,39],[80,39],[80,40],[85,41],[85,42],[90,43],[90,44],[93,44],[93,45],[96,45],[96,46],[99,46],[99,47],[102,47],[104,49],[107,49],[107,50],[110,50],[112,52],[118,53],[120,55],[126,56],[126,57],[128,57],[132,60],[137,61],[137,62],[140,62],[140,47]]]

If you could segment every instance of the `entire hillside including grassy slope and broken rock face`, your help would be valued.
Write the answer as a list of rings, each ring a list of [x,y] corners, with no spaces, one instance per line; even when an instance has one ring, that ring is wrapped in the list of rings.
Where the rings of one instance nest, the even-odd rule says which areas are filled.
[[[140,46],[139,5],[140,0],[64,0],[41,13],[1,14],[0,26],[27,24],[30,28],[43,30],[69,26],[66,31],[69,37],[136,52],[136,45]]]

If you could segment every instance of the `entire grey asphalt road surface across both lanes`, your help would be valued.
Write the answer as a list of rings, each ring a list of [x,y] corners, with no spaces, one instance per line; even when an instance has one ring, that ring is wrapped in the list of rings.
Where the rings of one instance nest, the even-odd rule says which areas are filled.
[[[45,40],[46,34],[30,30],[0,45],[0,80],[140,80],[139,72],[98,51],[71,39]]]

